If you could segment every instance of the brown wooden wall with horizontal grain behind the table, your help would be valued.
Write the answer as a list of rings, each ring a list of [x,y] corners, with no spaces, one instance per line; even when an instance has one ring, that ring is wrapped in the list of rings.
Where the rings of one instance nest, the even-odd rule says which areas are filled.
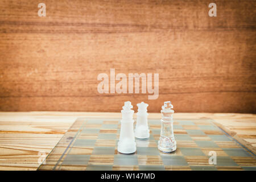
[[[1,0],[0,110],[255,113],[255,2]],[[159,98],[98,93],[110,68],[159,73]]]

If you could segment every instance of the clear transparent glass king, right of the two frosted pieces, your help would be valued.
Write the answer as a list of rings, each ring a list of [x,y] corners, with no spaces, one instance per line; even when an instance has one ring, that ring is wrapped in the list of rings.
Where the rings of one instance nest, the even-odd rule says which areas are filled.
[[[172,152],[176,150],[176,141],[174,138],[173,118],[174,110],[170,101],[164,102],[162,106],[162,126],[158,141],[158,149],[162,152]]]

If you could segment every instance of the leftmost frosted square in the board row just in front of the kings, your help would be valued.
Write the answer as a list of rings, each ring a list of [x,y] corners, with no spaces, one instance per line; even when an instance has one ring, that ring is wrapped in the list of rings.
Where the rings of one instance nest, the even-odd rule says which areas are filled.
[[[86,165],[88,164],[90,155],[67,155],[63,160],[63,165]]]

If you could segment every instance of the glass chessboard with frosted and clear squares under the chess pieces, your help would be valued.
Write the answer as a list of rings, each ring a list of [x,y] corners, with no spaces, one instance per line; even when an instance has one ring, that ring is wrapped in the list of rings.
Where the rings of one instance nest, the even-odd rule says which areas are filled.
[[[120,119],[79,118],[38,170],[256,170],[255,154],[211,119],[174,120],[177,150],[167,154],[157,147],[160,124],[148,119],[150,138],[135,139],[137,151],[121,154]],[[216,164],[209,163],[213,154]]]

